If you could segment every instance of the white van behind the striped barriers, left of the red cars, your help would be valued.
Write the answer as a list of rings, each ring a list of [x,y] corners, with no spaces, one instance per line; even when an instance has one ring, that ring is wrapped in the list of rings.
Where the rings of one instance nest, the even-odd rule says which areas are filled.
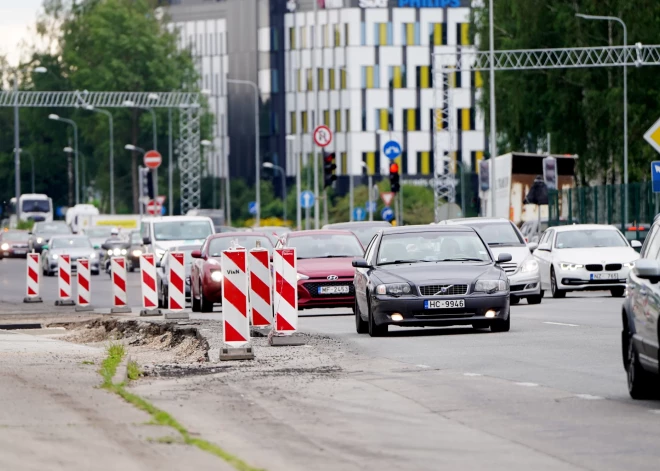
[[[166,250],[180,245],[201,245],[214,234],[213,221],[204,216],[163,216],[143,218],[140,236],[145,252],[159,261]]]

